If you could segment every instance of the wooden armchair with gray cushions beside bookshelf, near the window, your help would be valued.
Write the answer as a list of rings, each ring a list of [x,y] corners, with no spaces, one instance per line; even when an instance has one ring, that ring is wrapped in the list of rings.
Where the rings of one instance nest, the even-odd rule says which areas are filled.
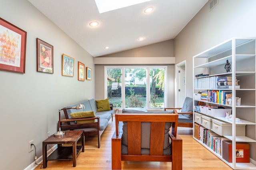
[[[185,103],[185,102],[188,102],[188,103]],[[196,105],[203,106],[204,102],[199,101],[198,103],[196,103]],[[187,109],[187,108],[184,109],[184,107],[189,107],[189,109]],[[182,108],[181,107],[166,107],[166,108],[164,108],[164,111],[168,111],[169,109],[181,110],[181,112],[178,112],[178,114],[179,114],[178,127],[193,127],[193,99],[192,98],[186,97]],[[182,109],[189,110],[190,112],[182,112]],[[186,115],[191,115],[191,116],[186,116]]]

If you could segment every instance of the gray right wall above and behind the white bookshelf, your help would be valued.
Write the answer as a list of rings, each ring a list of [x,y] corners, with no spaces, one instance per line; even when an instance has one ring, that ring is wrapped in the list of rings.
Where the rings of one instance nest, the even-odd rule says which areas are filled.
[[[174,39],[176,63],[186,60],[186,93],[193,94],[193,56],[232,37],[256,37],[255,0],[209,2]]]

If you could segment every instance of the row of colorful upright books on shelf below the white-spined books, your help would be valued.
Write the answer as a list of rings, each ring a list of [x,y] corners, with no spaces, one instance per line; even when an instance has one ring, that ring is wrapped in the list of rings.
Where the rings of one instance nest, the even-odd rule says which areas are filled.
[[[228,104],[228,98],[232,98],[231,90],[207,90],[201,92],[201,100],[216,104]]]

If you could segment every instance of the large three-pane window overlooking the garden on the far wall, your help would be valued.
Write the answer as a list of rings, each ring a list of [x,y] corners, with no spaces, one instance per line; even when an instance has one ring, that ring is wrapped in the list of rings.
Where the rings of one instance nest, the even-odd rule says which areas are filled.
[[[166,68],[105,66],[105,95],[116,108],[163,108],[166,101]]]

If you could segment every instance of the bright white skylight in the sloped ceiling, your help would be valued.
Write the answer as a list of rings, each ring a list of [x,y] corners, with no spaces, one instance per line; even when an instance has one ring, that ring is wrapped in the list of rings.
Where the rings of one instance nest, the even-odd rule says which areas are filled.
[[[150,0],[95,0],[100,14],[147,1]]]

